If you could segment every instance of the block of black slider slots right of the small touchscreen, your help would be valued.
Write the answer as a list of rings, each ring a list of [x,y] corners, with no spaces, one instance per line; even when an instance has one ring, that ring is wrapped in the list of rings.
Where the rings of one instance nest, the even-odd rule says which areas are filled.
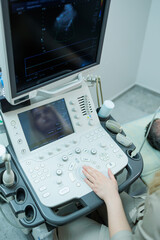
[[[89,115],[93,112],[90,100],[87,95],[79,97],[78,102],[83,116]]]

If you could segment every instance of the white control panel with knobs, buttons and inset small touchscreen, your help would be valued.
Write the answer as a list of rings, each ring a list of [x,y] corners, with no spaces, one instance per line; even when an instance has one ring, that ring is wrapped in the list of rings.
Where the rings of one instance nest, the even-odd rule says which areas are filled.
[[[47,207],[91,192],[83,165],[107,176],[108,168],[116,174],[128,163],[102,128],[85,83],[72,92],[1,114],[19,164]]]

